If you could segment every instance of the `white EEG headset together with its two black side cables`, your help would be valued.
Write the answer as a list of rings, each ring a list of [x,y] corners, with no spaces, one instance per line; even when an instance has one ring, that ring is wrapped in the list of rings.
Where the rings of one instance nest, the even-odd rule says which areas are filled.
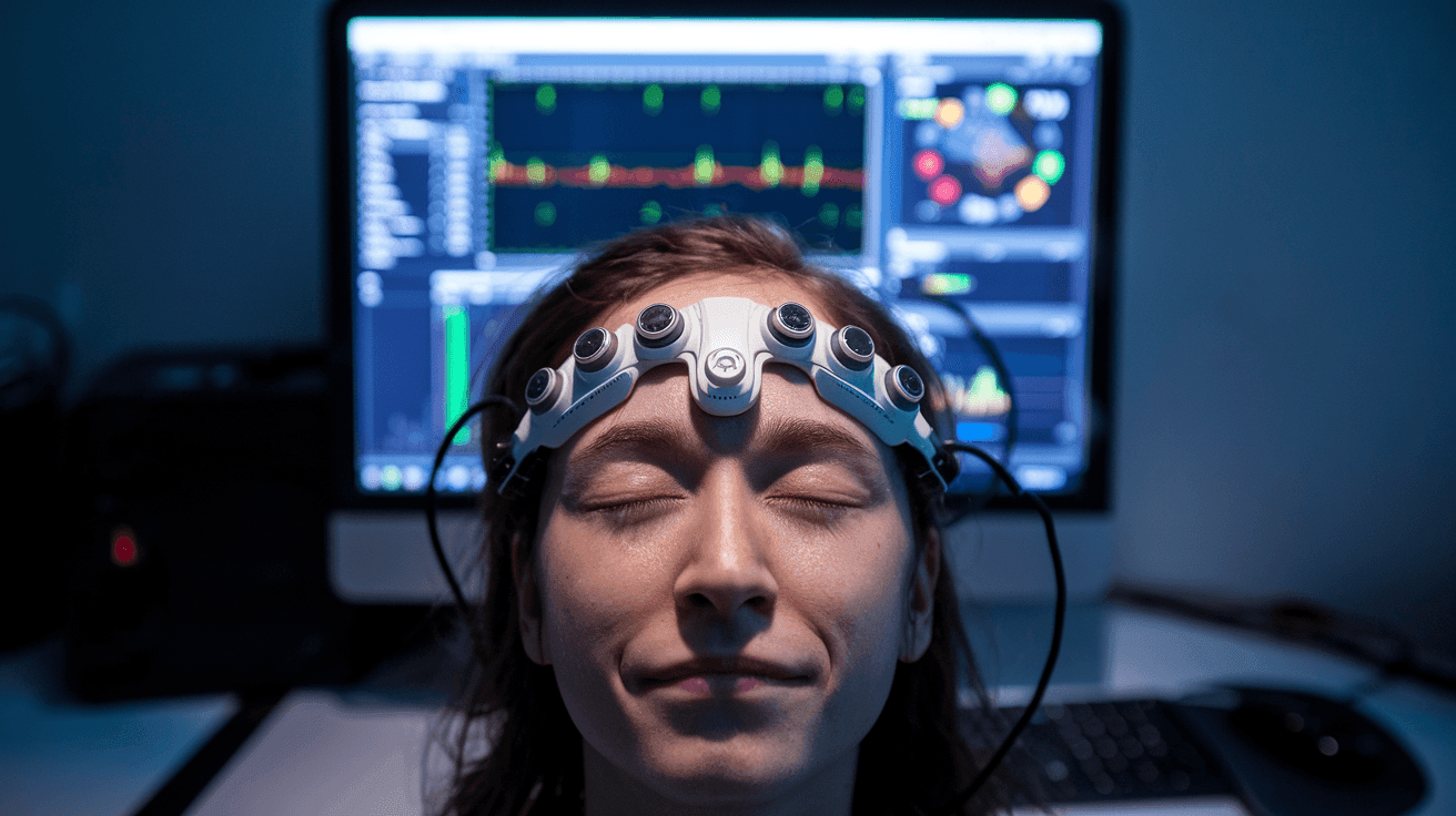
[[[435,451],[425,486],[425,521],[435,560],[478,653],[483,659],[483,636],[472,623],[470,605],[446,559],[435,518],[435,479],[456,433],[489,406],[507,406],[523,415],[515,433],[502,442],[491,464],[491,480],[504,493],[530,479],[536,470],[531,463],[540,463],[543,449],[559,448],[594,419],[626,401],[644,372],[670,362],[687,364],[693,401],[712,416],[737,416],[759,401],[764,362],[792,365],[810,377],[824,401],[859,420],[881,442],[916,451],[925,463],[916,473],[923,489],[945,496],[960,474],[952,452],[965,452],[984,461],[1013,496],[1031,503],[1041,516],[1057,582],[1051,647],[1031,700],[1000,746],[976,778],[935,813],[960,812],[1026,729],[1061,652],[1067,585],[1051,511],[986,451],[938,438],[920,413],[925,381],[913,368],[890,365],[875,353],[874,339],[859,326],[836,329],[820,323],[808,308],[792,301],[769,308],[748,298],[705,298],[681,310],[655,303],[638,313],[635,324],[622,324],[616,332],[601,326],[587,329],[577,337],[566,362],[531,374],[524,394],[527,410],[521,412],[510,397],[492,394],[456,419]]]

